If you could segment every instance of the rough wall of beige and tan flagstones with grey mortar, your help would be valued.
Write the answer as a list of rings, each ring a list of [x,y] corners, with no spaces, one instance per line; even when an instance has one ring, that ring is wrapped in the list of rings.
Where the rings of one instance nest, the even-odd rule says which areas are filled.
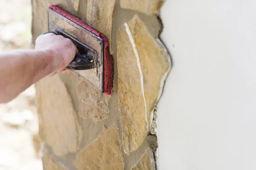
[[[113,95],[72,73],[36,84],[45,170],[154,170],[157,101],[170,56],[158,39],[163,0],[32,0],[33,40],[57,5],[104,34],[113,56]]]

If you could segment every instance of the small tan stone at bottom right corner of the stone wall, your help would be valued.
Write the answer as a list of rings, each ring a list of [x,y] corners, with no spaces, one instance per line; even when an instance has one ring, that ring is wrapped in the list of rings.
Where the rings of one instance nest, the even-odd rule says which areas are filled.
[[[148,147],[143,156],[131,170],[155,170],[154,154],[150,147]]]

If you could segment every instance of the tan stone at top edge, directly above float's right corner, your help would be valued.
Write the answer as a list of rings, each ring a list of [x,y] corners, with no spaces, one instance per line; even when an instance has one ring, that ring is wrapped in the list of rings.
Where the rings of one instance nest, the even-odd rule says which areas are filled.
[[[116,0],[87,0],[86,23],[105,35],[110,44],[115,5]]]

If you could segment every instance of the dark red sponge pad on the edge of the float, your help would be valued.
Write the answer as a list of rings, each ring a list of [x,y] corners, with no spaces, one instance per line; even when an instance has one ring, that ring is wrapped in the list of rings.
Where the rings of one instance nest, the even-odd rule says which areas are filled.
[[[69,20],[72,20],[74,23],[78,24],[79,26],[87,29],[88,31],[92,32],[93,34],[101,37],[104,40],[104,93],[107,95],[112,94],[112,81],[113,81],[113,59],[109,53],[109,43],[108,39],[105,35],[100,34],[95,29],[88,26],[84,21],[80,20],[79,18],[65,12],[63,9],[59,8],[58,6],[51,5],[49,6],[50,9],[58,12],[59,14],[63,15]]]

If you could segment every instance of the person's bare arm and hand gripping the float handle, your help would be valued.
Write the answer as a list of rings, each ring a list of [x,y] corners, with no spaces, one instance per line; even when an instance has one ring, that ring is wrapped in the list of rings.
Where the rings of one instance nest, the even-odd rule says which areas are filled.
[[[0,103],[7,103],[45,76],[64,71],[78,54],[70,39],[41,35],[34,50],[0,53]]]

